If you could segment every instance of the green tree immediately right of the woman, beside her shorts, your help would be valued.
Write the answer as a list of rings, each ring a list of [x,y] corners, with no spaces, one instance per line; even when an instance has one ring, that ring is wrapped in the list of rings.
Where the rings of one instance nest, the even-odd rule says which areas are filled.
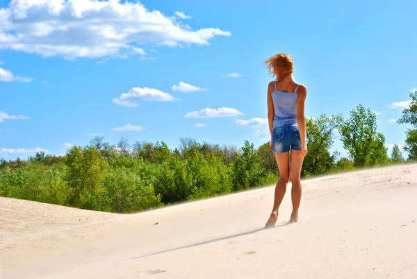
[[[330,152],[336,130],[343,122],[342,115],[331,117],[321,114],[318,118],[306,119],[306,138],[309,152],[304,158],[302,175],[327,173],[336,161],[338,152]]]

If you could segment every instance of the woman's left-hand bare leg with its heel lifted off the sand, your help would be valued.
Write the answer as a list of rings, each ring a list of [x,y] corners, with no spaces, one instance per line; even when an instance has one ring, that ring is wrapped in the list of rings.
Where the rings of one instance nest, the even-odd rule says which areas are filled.
[[[279,205],[281,205],[281,202],[284,199],[290,174],[288,152],[275,153],[275,159],[277,160],[279,170],[279,180],[277,186],[275,186],[274,206],[272,207],[272,213],[265,224],[265,228],[273,227],[275,223],[277,223]]]

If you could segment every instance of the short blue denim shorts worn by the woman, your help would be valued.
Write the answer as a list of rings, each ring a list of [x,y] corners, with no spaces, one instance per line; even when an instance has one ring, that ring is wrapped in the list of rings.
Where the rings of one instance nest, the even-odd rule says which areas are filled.
[[[272,128],[272,148],[275,153],[301,150],[300,130],[297,123]]]

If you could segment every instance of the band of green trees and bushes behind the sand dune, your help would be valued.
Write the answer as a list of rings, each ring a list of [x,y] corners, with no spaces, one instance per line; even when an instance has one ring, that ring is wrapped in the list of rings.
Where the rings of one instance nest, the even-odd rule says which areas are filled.
[[[417,159],[417,92],[399,123],[410,125],[404,159],[398,145],[387,154],[376,116],[361,104],[342,115],[307,118],[308,154],[302,177]],[[350,156],[332,152],[340,137]],[[258,148],[197,143],[181,138],[174,150],[161,142],[106,143],[97,136],[65,156],[38,152],[26,160],[0,160],[0,196],[104,212],[129,213],[250,189],[277,182],[269,142]]]

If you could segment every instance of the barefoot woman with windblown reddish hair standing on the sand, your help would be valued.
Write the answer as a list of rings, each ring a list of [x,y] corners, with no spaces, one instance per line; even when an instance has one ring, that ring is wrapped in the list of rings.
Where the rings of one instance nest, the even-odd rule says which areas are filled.
[[[298,221],[298,208],[302,193],[301,168],[307,154],[304,117],[307,89],[294,81],[293,59],[288,54],[271,56],[265,61],[265,65],[277,79],[268,85],[268,123],[271,134],[270,150],[275,154],[279,169],[274,205],[265,225],[265,228],[268,228],[273,227],[277,222],[279,205],[284,198],[290,178],[293,202],[290,223]]]

